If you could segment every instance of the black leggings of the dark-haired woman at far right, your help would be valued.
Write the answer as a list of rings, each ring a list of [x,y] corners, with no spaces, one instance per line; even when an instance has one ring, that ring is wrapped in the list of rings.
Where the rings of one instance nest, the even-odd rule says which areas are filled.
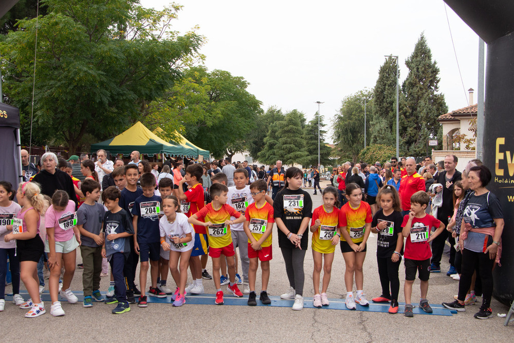
[[[491,304],[493,265],[494,259],[489,258],[489,253],[484,254],[464,248],[462,251],[461,280],[458,282],[458,300],[464,301],[466,299],[466,294],[471,285],[471,277],[475,267],[478,266],[479,273],[476,276],[477,279],[480,277],[482,282],[482,307],[488,309]]]

